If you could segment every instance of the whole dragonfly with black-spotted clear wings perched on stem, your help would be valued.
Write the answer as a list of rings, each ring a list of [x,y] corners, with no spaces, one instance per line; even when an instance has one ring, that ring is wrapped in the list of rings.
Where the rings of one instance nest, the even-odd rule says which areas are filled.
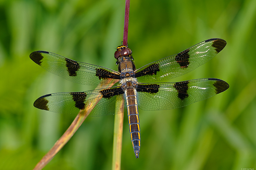
[[[88,116],[113,115],[126,107],[131,142],[136,158],[140,153],[140,119],[138,108],[166,110],[184,107],[224,92],[227,82],[217,78],[203,78],[180,82],[154,83],[186,74],[217,55],[227,42],[212,38],[198,43],[183,52],[172,55],[140,69],[136,69],[132,51],[118,46],[114,57],[118,71],[83,63],[46,51],[30,54],[32,61],[49,72],[69,81],[84,85],[113,86],[84,92],[60,92],[36,99],[34,107],[51,112],[85,116],[82,112],[93,105]],[[124,101],[123,103],[121,103]],[[123,104],[123,105],[122,105]],[[116,106],[122,106],[120,107]],[[87,116],[87,115],[86,115]]]

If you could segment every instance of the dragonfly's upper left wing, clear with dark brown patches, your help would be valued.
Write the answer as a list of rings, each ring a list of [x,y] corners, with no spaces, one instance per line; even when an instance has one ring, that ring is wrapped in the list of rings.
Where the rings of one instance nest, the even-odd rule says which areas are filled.
[[[79,84],[105,85],[110,79],[120,79],[119,72],[114,70],[73,61],[51,52],[35,51],[29,57],[47,71]]]

